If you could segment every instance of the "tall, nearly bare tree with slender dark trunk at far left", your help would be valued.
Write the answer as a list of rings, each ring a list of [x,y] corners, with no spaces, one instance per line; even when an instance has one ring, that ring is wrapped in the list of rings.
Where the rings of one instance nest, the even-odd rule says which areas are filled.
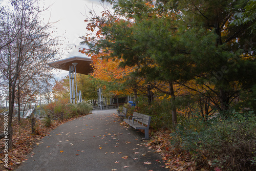
[[[2,39],[10,44],[1,49],[1,75],[9,83],[9,122],[12,130],[12,115],[17,83],[19,88],[32,78],[49,79],[50,68],[46,65],[54,59],[56,39],[47,29],[50,23],[39,22],[41,10],[37,0],[9,1],[10,6],[1,20]],[[18,81],[22,80],[22,81]],[[12,137],[9,137],[9,148]]]

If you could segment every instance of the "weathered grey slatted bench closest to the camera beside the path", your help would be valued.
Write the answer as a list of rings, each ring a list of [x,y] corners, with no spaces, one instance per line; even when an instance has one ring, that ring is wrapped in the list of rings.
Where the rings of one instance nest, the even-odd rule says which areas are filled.
[[[151,116],[134,112],[133,116],[129,116],[128,119],[124,119],[123,121],[134,127],[136,130],[145,130],[145,139],[149,139],[150,136],[148,134],[148,130],[150,128],[150,120]]]

